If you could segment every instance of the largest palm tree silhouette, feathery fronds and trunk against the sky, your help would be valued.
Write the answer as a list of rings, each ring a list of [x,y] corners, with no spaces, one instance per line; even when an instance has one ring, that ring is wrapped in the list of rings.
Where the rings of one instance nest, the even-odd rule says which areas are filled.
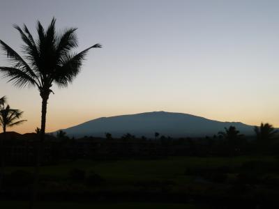
[[[35,40],[27,26],[22,29],[15,25],[15,29],[20,32],[24,42],[22,53],[17,54],[6,42],[0,40],[0,46],[10,61],[10,66],[0,67],[0,72],[4,77],[10,78],[8,82],[13,82],[15,86],[36,86],[42,98],[40,140],[45,138],[45,121],[47,114],[47,100],[52,91],[52,85],[66,87],[80,72],[82,61],[84,61],[89,49],[100,48],[100,44],[84,49],[80,53],[73,53],[77,47],[76,28],[66,29],[59,34],[55,28],[55,18],[44,29],[38,21],[38,39]]]

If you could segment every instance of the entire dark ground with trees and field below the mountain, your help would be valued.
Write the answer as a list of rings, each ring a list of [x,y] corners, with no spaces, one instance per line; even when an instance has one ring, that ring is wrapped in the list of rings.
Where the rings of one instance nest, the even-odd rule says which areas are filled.
[[[39,136],[7,132],[6,137],[2,199],[24,202],[32,190]],[[266,208],[278,203],[279,138],[271,125],[255,127],[250,137],[234,127],[212,137],[154,137],[47,135],[40,202],[160,202],[181,208]]]

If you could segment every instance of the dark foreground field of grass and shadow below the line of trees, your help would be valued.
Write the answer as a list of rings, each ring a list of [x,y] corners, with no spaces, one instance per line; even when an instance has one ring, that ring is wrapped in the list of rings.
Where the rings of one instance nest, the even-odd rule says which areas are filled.
[[[41,168],[37,204],[38,208],[259,208],[277,203],[278,165],[271,156],[65,161]],[[1,208],[27,208],[32,172],[33,167],[6,168],[8,192]]]

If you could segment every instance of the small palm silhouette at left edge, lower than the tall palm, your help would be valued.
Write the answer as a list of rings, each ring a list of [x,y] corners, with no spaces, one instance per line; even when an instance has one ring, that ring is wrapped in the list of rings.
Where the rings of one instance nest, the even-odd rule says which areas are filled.
[[[26,120],[18,121],[22,117],[23,111],[19,109],[10,109],[10,105],[3,104],[0,107],[0,125],[3,128],[3,133],[6,133],[7,127],[13,127],[15,125],[20,125]]]

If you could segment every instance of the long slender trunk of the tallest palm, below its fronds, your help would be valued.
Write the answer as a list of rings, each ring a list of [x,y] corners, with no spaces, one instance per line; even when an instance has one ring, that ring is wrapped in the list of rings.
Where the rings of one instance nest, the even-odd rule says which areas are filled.
[[[45,140],[45,121],[47,116],[47,100],[49,94],[41,95],[42,97],[42,116],[41,116],[41,124],[40,124],[40,139],[37,141],[37,159],[36,159],[36,167],[34,170],[34,182],[33,182],[33,192],[31,196],[31,201],[29,204],[29,209],[34,208],[34,203],[38,198],[38,185],[40,180],[40,164],[43,157],[43,141]]]

